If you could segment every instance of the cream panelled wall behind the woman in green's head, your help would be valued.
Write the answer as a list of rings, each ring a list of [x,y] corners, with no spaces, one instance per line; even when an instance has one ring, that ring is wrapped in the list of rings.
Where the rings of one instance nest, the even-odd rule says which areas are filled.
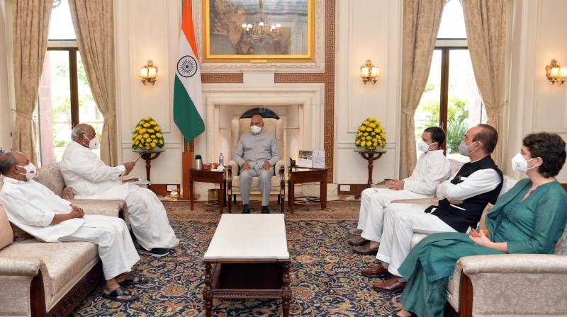
[[[515,0],[512,8],[510,117],[503,171],[530,132],[554,132],[567,140],[567,83],[551,85],[545,66],[556,59],[567,66],[567,16],[564,0]],[[516,174],[517,175],[517,174]],[[517,175],[520,176],[520,175]],[[567,183],[567,168],[558,175]]]

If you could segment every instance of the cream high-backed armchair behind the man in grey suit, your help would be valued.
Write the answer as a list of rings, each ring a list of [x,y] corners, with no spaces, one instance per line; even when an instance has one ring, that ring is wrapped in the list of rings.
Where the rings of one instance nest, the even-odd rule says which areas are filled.
[[[283,213],[284,197],[286,197],[286,178],[285,178],[285,163],[283,158],[286,157],[286,142],[285,132],[283,131],[283,120],[280,119],[275,113],[264,110],[262,108],[255,108],[247,111],[240,119],[234,119],[231,122],[231,149],[236,149],[238,139],[242,134],[249,132],[250,119],[253,115],[262,114],[264,117],[264,131],[274,134],[276,142],[278,143],[280,160],[274,166],[275,177],[271,178],[270,195],[276,195],[278,204],[280,204],[281,212]],[[267,112],[267,113],[266,113]],[[228,197],[236,202],[236,195],[240,195],[240,166],[234,161],[230,160],[228,163],[227,171],[228,183]],[[260,194],[259,179],[252,178],[252,186],[250,188],[250,195]]]

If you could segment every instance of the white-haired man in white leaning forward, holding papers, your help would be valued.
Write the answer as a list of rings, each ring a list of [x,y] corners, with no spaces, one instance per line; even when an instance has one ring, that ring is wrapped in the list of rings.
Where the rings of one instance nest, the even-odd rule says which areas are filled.
[[[107,166],[91,149],[99,147],[94,128],[79,124],[72,130],[73,142],[67,145],[60,169],[74,195],[80,199],[125,200],[132,231],[140,243],[140,252],[156,257],[169,254],[169,248],[179,244],[169,225],[164,205],[147,188],[122,183],[134,162]]]

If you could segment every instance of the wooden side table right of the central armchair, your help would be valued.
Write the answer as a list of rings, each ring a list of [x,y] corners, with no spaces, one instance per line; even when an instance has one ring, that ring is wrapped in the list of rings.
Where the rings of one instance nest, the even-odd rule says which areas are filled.
[[[303,183],[320,183],[319,200],[305,197],[312,203],[303,204],[321,204],[321,210],[327,208],[327,168],[288,168],[288,209],[293,214],[293,204],[296,204],[295,185]],[[299,198],[299,197],[297,197]]]

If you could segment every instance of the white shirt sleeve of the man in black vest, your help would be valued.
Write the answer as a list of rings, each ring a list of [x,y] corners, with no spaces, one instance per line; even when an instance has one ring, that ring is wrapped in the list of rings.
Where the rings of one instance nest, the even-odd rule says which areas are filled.
[[[459,173],[459,171],[456,173]],[[492,168],[486,168],[473,172],[468,177],[461,177],[461,180],[463,180],[461,183],[453,184],[451,180],[455,178],[456,173],[437,187],[437,198],[439,200],[445,198],[447,200],[466,200],[483,192],[490,192],[490,190],[497,188],[501,181],[500,175],[496,171]]]

